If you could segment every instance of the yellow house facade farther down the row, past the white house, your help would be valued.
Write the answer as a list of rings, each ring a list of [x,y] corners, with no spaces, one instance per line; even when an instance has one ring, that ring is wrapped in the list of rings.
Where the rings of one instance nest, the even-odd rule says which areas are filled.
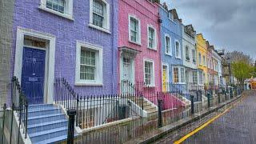
[[[207,71],[207,46],[206,39],[202,34],[197,34],[197,65],[198,65],[198,85],[208,84]]]

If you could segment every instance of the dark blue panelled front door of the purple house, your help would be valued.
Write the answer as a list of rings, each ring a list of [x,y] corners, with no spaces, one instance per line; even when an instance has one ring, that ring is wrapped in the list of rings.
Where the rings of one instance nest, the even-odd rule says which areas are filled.
[[[24,47],[22,90],[29,104],[43,103],[46,51]]]

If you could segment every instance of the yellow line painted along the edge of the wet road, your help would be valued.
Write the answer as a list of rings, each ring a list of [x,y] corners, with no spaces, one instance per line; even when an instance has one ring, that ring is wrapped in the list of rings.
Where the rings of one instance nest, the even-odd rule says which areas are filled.
[[[245,98],[245,97],[244,97]],[[223,114],[226,114],[226,112],[228,112],[229,110],[231,110],[234,106],[238,105],[239,102],[242,102],[242,100],[244,99],[242,98],[240,101],[234,103],[234,105],[230,106],[228,109],[226,109],[225,111],[223,111],[221,114],[216,115],[214,118],[211,118],[208,122],[204,123],[202,126],[199,126],[197,129],[191,131],[189,134],[186,134],[184,137],[182,137],[181,139],[179,139],[178,141],[175,141],[174,144],[180,144],[182,142],[184,142],[186,140],[186,138],[190,138],[190,136],[192,136],[193,134],[196,134],[199,130],[202,130],[203,128],[205,128],[206,126],[208,126],[211,122],[214,122],[217,118],[221,117]]]

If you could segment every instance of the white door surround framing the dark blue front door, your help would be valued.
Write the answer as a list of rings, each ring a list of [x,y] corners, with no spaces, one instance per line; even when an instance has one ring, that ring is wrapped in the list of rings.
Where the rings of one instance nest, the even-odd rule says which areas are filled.
[[[45,92],[44,92],[44,102],[53,103],[54,102],[54,63],[55,63],[55,36],[51,34],[46,34],[38,32],[35,30],[29,30],[22,27],[17,28],[17,38],[16,38],[16,50],[15,50],[15,63],[14,63],[14,76],[19,80],[22,78],[22,55],[24,47],[24,36],[29,35],[36,38],[42,38],[49,41],[49,52],[48,52],[48,64],[46,65],[45,74],[48,76],[45,79]],[[47,58],[46,57],[46,58]]]

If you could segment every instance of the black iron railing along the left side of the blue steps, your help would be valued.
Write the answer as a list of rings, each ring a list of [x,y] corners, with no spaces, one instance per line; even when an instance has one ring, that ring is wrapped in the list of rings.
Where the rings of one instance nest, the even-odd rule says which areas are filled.
[[[27,117],[28,117],[28,101],[26,95],[22,92],[21,85],[18,78],[15,76],[12,78],[11,82],[11,99],[12,99],[12,110],[18,114],[18,130],[22,129],[25,138],[27,138]],[[12,116],[11,123],[13,123],[14,118]],[[12,128],[10,130],[10,143],[11,143]],[[18,133],[18,139],[20,134]]]

